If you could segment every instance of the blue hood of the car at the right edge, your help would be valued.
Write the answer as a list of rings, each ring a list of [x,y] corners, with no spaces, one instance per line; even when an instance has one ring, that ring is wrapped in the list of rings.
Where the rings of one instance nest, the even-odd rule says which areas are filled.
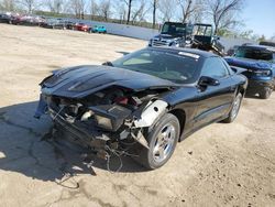
[[[265,61],[255,61],[239,57],[226,57],[224,59],[229,65],[243,67],[246,69],[271,69],[273,67],[272,63]]]

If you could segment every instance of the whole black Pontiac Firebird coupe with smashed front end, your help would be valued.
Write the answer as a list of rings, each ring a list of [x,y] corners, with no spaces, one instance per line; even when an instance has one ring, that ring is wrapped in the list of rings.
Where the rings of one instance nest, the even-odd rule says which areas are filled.
[[[131,154],[164,165],[196,130],[238,116],[248,80],[221,57],[197,50],[144,48],[102,66],[77,66],[42,83],[38,118],[101,157]]]

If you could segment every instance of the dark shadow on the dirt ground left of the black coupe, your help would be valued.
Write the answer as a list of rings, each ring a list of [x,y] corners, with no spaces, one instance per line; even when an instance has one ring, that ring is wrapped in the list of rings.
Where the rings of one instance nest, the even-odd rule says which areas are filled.
[[[0,170],[43,181],[62,181],[79,174],[96,175],[98,168],[116,172],[120,159],[107,161],[64,139],[52,139],[48,116],[33,118],[37,102],[0,108]],[[130,157],[121,157],[120,172],[144,172]]]

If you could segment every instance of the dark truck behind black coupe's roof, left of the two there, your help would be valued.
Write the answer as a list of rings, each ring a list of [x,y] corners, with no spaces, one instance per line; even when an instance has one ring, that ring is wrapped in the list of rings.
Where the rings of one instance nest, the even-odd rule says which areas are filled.
[[[161,34],[150,40],[148,46],[178,46],[184,47],[190,39],[193,25],[180,22],[165,22]]]

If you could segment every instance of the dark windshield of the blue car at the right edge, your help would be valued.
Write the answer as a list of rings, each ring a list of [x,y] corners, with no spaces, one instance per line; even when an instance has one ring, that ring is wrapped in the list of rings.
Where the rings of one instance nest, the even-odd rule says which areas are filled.
[[[253,47],[239,47],[235,57],[274,62],[275,55],[271,51]]]

